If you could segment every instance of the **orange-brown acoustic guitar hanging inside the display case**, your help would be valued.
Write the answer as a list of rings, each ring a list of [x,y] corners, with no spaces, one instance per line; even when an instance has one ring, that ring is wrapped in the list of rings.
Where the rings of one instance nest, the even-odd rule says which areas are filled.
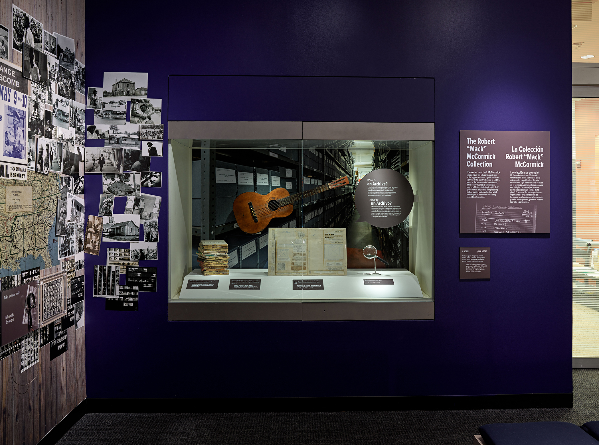
[[[233,202],[233,213],[241,230],[246,234],[257,234],[268,226],[271,219],[289,216],[294,211],[294,202],[347,184],[349,179],[344,176],[295,195],[289,195],[283,187],[274,189],[268,195],[254,192],[241,193]]]

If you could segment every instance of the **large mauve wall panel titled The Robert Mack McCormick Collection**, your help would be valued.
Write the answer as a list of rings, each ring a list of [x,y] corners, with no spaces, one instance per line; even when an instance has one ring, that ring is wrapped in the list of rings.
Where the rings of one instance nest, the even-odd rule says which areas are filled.
[[[459,232],[549,233],[548,131],[459,132]]]

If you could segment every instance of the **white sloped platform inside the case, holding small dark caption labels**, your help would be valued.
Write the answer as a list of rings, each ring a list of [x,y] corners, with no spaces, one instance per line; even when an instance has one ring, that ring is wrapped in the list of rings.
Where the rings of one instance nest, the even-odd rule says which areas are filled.
[[[203,276],[199,269],[183,279],[179,299],[198,302],[359,302],[431,301],[422,294],[418,277],[405,269],[349,269],[347,276],[268,276],[266,269],[231,269],[229,275]],[[260,280],[259,290],[229,290],[230,280]],[[294,290],[293,280],[323,280],[324,290]],[[217,289],[187,289],[189,280],[219,280]],[[364,280],[393,280],[393,284],[365,284]],[[372,282],[372,281],[371,281]]]

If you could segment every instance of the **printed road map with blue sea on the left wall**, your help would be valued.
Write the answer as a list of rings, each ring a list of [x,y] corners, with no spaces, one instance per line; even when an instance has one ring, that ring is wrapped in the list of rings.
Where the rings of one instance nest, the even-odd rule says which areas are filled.
[[[28,171],[28,180],[0,178],[0,277],[34,267],[56,266],[58,239],[54,234],[59,175]],[[33,211],[7,213],[6,186],[32,186]]]

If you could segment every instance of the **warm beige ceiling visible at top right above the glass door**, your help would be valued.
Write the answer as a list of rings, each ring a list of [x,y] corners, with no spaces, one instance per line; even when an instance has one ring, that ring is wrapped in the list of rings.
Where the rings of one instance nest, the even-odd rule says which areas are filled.
[[[599,1],[573,1],[572,25],[572,62],[599,63]],[[587,55],[595,57],[580,59]]]

